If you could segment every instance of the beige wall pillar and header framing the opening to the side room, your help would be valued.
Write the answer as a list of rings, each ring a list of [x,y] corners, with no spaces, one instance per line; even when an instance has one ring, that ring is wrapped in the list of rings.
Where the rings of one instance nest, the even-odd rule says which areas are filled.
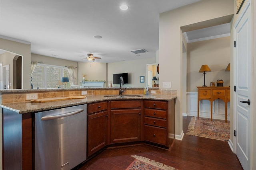
[[[234,0],[202,0],[160,14],[159,70],[162,82],[172,82],[177,90],[176,135],[182,135],[182,31],[228,23],[234,14]],[[196,24],[195,24],[196,23]]]

